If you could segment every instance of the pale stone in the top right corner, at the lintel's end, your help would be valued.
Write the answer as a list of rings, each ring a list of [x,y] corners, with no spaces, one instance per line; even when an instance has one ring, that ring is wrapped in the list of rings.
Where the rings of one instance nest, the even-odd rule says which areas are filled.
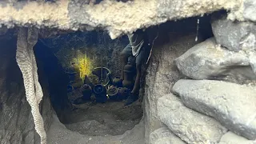
[[[256,22],[256,1],[246,0],[244,2],[243,17]]]

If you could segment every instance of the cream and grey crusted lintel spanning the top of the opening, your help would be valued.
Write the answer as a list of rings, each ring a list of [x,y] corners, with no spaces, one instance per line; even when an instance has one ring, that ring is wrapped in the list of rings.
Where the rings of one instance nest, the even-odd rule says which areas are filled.
[[[101,27],[111,38],[139,28],[158,25],[167,20],[188,18],[216,10],[230,10],[242,6],[240,0],[134,0],[117,2],[104,0],[97,5],[84,1],[57,2],[0,2],[0,24],[34,25],[62,30],[92,30]],[[143,8],[142,8],[143,7]]]

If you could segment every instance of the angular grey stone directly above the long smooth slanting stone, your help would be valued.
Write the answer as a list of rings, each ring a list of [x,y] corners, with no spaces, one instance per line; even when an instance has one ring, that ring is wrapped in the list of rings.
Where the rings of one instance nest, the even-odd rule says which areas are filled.
[[[187,50],[175,59],[178,70],[194,79],[225,79],[243,83],[256,80],[256,74],[250,67],[250,58],[245,52],[232,52],[218,46],[214,38]]]

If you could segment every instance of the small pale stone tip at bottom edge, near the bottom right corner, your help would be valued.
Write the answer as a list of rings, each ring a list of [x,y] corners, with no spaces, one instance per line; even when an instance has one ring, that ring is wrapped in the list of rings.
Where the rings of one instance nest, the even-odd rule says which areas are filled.
[[[250,141],[229,131],[222,136],[218,144],[254,144],[254,141]]]

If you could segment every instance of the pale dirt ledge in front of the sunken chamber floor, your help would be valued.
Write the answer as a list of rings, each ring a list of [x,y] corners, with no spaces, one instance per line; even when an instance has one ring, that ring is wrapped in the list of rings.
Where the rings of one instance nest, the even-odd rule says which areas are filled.
[[[49,144],[143,144],[144,141],[144,121],[128,130],[125,134],[117,136],[88,136],[66,129],[59,122],[57,115],[47,131],[47,143]]]

